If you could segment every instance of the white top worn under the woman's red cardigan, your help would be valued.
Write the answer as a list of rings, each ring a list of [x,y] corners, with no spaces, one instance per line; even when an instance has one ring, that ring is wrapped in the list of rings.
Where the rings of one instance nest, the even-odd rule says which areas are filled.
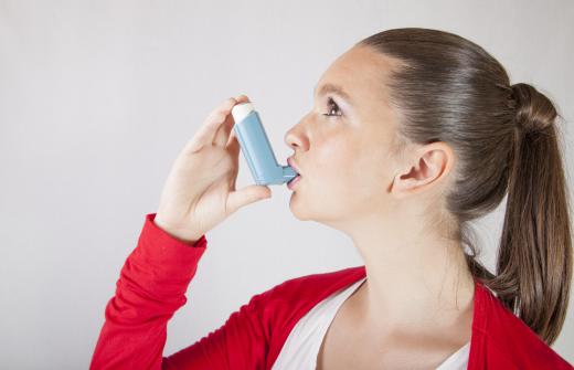
[[[295,325],[285,341],[272,370],[308,369],[317,367],[317,356],[323,337],[339,307],[366,278],[342,288],[312,307]],[[436,370],[464,370],[467,368],[470,342],[460,347],[440,363]]]

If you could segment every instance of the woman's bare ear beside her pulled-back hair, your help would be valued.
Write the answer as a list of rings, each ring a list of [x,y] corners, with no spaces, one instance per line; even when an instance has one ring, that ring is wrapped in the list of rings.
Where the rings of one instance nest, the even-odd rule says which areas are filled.
[[[453,149],[435,141],[416,149],[411,162],[394,177],[391,194],[397,199],[426,191],[443,182],[455,162]]]

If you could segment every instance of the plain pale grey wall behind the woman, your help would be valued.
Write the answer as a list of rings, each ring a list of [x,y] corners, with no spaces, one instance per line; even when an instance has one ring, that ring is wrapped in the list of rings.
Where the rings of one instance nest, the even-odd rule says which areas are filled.
[[[0,367],[87,368],[145,215],[213,107],[247,94],[285,163],[284,135],[321,73],[385,29],[455,32],[546,93],[567,120],[572,183],[573,19],[571,0],[1,0]],[[243,156],[240,167],[238,188],[252,183]],[[362,264],[349,239],[298,221],[290,191],[270,188],[208,233],[166,355],[287,278]],[[491,268],[503,207],[476,222]],[[571,307],[553,348],[574,362]]]

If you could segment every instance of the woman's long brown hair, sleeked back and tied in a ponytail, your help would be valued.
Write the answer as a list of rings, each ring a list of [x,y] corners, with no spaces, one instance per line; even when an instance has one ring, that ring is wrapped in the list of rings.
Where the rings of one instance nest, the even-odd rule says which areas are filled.
[[[446,195],[449,237],[468,247],[476,279],[548,345],[564,324],[572,281],[572,234],[554,104],[529,84],[510,85],[502,65],[453,33],[406,28],[355,45],[401,61],[387,84],[400,113],[397,142],[444,141],[458,165]],[[562,118],[562,116],[560,116]],[[497,272],[477,261],[468,221],[508,192]]]

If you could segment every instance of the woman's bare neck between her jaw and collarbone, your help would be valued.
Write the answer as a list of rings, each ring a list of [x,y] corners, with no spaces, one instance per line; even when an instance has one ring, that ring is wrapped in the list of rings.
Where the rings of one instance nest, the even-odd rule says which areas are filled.
[[[371,218],[350,233],[366,271],[355,292],[357,319],[390,336],[455,329],[469,336],[475,282],[461,246],[416,228],[422,222],[406,224]]]

